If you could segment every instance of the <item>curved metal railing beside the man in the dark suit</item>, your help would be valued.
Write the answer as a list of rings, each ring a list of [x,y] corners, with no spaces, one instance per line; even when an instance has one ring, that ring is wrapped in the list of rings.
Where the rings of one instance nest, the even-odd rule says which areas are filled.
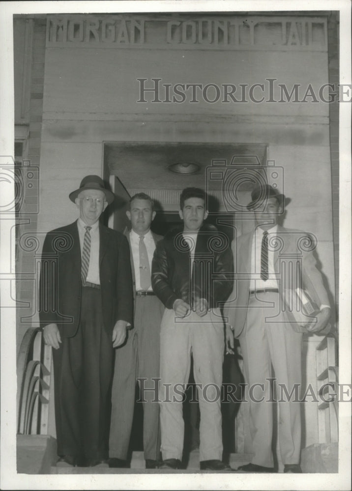
[[[26,331],[17,357],[17,433],[47,435],[52,351],[40,327]]]

